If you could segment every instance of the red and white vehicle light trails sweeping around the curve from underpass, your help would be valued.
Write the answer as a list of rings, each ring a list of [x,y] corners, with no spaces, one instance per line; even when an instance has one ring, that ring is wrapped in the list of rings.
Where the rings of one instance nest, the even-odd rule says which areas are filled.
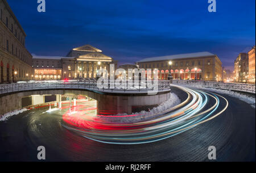
[[[199,124],[217,117],[228,108],[228,100],[211,92],[196,91],[177,86],[187,93],[187,99],[179,105],[151,116],[151,119],[138,121],[138,115],[133,117],[134,123],[112,123],[101,119],[104,116],[88,117],[76,109],[76,113],[64,113],[63,126],[80,136],[107,144],[145,144],[170,138],[189,130]],[[214,104],[206,109],[209,99]],[[220,108],[220,102],[225,106]],[[123,117],[125,118],[125,116]]]

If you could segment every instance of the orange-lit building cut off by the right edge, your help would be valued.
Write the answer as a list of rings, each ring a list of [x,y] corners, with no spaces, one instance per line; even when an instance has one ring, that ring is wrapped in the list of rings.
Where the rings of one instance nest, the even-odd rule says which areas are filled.
[[[248,83],[255,84],[255,46],[248,52],[249,76]]]

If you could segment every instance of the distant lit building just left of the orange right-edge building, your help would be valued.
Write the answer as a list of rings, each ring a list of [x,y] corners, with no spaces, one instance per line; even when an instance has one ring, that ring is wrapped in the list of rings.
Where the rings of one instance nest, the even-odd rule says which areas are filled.
[[[234,82],[246,83],[249,74],[249,60],[247,53],[240,53],[234,61]]]

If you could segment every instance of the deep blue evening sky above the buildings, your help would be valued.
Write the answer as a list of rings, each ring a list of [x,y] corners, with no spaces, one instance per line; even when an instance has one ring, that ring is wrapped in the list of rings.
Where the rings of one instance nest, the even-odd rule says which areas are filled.
[[[255,45],[255,0],[7,0],[32,54],[65,56],[90,44],[119,64],[145,57],[208,51],[233,69]]]

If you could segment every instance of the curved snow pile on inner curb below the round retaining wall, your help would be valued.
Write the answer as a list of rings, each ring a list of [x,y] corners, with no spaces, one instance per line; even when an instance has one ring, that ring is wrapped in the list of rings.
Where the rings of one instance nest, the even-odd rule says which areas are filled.
[[[132,113],[132,115],[134,116],[129,116],[127,115],[127,113],[119,113],[117,115],[108,116],[108,117],[97,116],[96,119],[100,121],[106,121],[106,122],[112,122],[112,123],[135,123],[135,122],[150,119],[154,117],[154,115],[159,114],[165,111],[166,109],[175,107],[179,103],[180,103],[180,99],[178,98],[178,96],[174,93],[170,93],[170,99],[160,104],[158,107],[152,108],[150,111],[141,111],[141,112]],[[124,117],[120,117],[120,116],[124,116]]]

